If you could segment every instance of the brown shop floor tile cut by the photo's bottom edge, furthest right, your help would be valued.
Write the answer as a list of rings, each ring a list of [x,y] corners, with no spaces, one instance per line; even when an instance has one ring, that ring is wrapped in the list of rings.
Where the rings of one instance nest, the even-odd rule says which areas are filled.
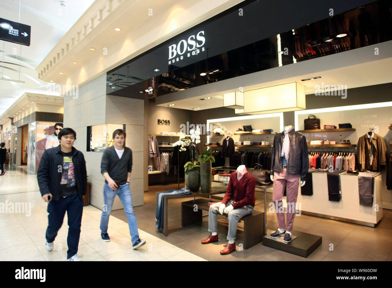
[[[342,261],[385,261],[388,255],[340,243],[328,255]]]

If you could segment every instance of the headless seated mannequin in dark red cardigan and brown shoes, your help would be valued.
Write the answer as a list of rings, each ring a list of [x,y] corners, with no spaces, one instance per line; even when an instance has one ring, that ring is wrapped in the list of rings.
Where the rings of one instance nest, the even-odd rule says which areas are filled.
[[[254,189],[256,187],[256,179],[250,174],[245,165],[237,168],[236,172],[230,174],[229,185],[223,197],[222,202],[212,204],[209,210],[208,231],[211,235],[201,241],[202,244],[208,244],[218,241],[218,213],[228,214],[229,231],[227,232],[227,240],[229,242],[226,247],[220,251],[220,254],[230,254],[236,250],[236,232],[238,221],[254,210]]]

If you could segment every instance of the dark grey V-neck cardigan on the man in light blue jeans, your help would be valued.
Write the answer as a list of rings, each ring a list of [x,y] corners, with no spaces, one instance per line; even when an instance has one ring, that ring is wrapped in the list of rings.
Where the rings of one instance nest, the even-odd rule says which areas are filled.
[[[127,182],[128,172],[132,172],[132,150],[124,147],[124,153],[120,159],[116,150],[114,150],[114,146],[105,149],[101,160],[101,173],[103,174],[105,172],[118,184],[125,184]],[[105,183],[107,183],[106,180]]]

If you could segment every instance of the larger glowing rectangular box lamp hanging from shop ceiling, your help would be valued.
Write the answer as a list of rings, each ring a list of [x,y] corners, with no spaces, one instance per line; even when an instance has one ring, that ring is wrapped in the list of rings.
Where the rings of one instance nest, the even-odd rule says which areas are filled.
[[[296,82],[244,91],[243,94],[246,114],[306,109],[305,86]]]

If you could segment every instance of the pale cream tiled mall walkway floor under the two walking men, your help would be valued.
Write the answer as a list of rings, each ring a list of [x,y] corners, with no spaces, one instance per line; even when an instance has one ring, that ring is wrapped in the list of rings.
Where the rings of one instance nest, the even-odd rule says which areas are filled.
[[[47,203],[41,199],[36,175],[27,175],[19,168],[13,171],[5,168],[7,173],[0,178],[0,202],[30,203],[27,207],[31,205],[31,210],[0,213],[0,261],[64,261],[67,258],[67,216],[58,231],[53,251],[48,252],[45,249]],[[101,210],[93,206],[83,208],[78,250],[83,261],[205,261],[143,230],[139,230],[139,235],[147,241],[146,245],[132,250],[128,224],[114,216],[109,220],[111,241],[103,242],[100,217]]]

